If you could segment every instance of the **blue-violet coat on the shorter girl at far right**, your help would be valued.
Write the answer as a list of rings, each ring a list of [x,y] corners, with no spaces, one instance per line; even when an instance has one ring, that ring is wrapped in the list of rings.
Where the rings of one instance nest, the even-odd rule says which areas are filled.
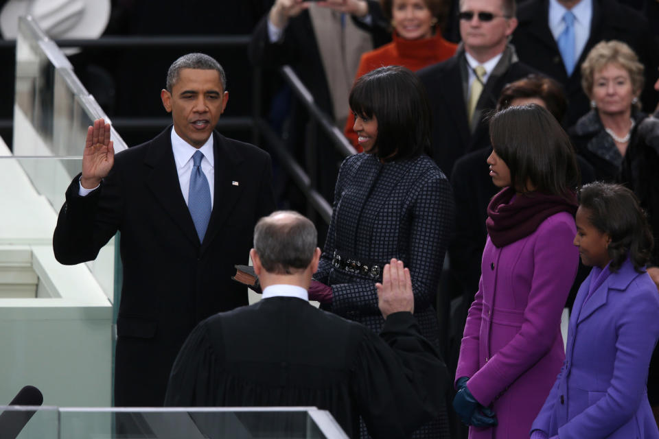
[[[591,273],[592,276],[592,273]],[[532,429],[561,439],[657,439],[647,368],[659,337],[659,294],[627,261],[570,316],[566,361]]]

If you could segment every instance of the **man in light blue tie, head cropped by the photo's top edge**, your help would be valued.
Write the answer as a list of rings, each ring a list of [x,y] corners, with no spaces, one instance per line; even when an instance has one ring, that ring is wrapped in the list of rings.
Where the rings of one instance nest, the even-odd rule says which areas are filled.
[[[561,82],[568,97],[564,126],[590,110],[581,88],[581,62],[602,40],[620,40],[632,47],[645,66],[643,110],[652,112],[657,95],[659,49],[649,25],[637,11],[618,0],[529,0],[520,4],[520,24],[513,34],[520,60]],[[656,3],[656,0],[653,0]]]

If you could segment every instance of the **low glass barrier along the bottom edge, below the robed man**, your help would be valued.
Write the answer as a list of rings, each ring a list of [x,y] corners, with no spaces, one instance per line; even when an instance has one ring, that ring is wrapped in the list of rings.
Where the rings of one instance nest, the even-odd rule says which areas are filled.
[[[315,407],[79,409],[0,407],[3,430],[18,439],[343,439],[332,415]],[[24,425],[24,426],[23,426]],[[14,437],[14,436],[10,436]]]

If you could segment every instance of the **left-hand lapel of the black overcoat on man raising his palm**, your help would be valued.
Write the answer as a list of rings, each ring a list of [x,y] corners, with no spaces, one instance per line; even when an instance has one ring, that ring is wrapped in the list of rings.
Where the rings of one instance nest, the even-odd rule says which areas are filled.
[[[199,238],[192,222],[192,216],[187,209],[181,183],[178,182],[174,152],[172,152],[172,127],[161,132],[149,144],[149,150],[144,159],[146,167],[150,168],[146,176],[146,185],[154,198],[159,202],[174,222],[181,228],[181,232],[195,246],[199,245]]]

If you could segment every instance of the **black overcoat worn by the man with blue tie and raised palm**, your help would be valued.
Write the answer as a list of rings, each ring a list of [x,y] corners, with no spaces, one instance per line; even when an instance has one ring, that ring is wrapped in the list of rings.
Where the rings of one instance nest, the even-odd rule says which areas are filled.
[[[218,311],[247,305],[231,280],[247,263],[257,220],[275,209],[270,156],[213,132],[215,196],[199,242],[174,162],[172,127],[120,152],[101,187],[67,189],[53,237],[60,263],[95,259],[121,232],[122,296],[117,318],[115,405],[160,406],[185,337]]]

